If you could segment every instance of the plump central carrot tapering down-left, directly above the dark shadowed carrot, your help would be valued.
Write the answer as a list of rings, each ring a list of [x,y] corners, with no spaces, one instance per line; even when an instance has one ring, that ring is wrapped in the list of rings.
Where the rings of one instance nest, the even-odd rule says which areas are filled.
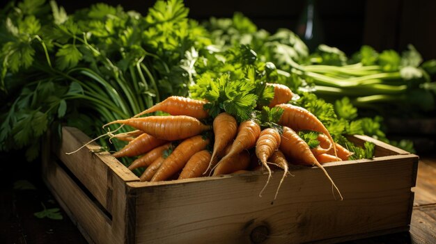
[[[250,149],[256,145],[256,141],[258,140],[260,135],[260,126],[258,123],[253,120],[246,120],[242,122],[238,127],[238,132],[235,140],[226,156],[221,158],[221,161],[226,161],[227,158],[231,156],[237,155],[245,149]],[[219,165],[221,163],[217,165]]]

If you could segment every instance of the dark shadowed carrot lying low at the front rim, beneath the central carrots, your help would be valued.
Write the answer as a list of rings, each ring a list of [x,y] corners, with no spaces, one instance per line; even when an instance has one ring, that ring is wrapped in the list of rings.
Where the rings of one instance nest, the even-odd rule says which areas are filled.
[[[246,150],[244,150],[239,154],[233,154],[230,157],[226,157],[225,159],[223,158],[219,162],[219,165],[217,165],[213,171],[213,176],[220,174],[231,174],[238,170],[247,169],[250,164],[250,155]]]

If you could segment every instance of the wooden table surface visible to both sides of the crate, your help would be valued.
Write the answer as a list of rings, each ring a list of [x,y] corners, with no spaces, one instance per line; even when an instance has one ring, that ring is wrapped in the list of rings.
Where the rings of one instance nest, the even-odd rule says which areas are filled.
[[[62,209],[62,220],[35,217],[44,207],[59,208],[40,175],[39,162],[26,163],[22,154],[0,155],[0,243],[86,243]],[[33,189],[22,189],[25,186]],[[347,244],[436,243],[436,153],[421,156],[413,190],[410,231]]]

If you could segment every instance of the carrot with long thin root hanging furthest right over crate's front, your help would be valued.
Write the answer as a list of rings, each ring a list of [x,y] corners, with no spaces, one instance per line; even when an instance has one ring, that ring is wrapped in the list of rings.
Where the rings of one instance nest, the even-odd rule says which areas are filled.
[[[341,192],[334,184],[332,178],[330,178],[329,174],[325,170],[324,167],[316,160],[315,156],[313,156],[309,145],[298,136],[293,129],[289,127],[283,127],[283,133],[281,134],[281,143],[280,150],[287,156],[288,158],[294,158],[299,161],[299,163],[303,165],[316,165],[318,166],[327,176],[327,178],[332,182],[332,185],[339,193],[341,200],[343,199]]]

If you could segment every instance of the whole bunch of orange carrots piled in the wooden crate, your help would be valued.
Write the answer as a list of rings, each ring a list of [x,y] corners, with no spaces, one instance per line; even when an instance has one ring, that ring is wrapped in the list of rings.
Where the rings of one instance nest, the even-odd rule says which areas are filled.
[[[270,86],[274,86],[270,108],[283,110],[277,127],[261,127],[262,123],[256,118],[238,123],[226,112],[211,118],[203,109],[208,101],[169,97],[130,119],[109,123],[126,124],[137,129],[113,136],[129,141],[113,155],[117,158],[137,156],[129,169],[145,168],[141,181],[266,170],[266,187],[272,176],[270,165],[283,169],[282,182],[290,162],[318,166],[336,188],[321,163],[348,160],[351,153],[334,142],[316,116],[304,108],[288,104],[293,97],[288,87]],[[170,115],[139,117],[156,111]],[[210,130],[213,133],[204,133]],[[320,133],[318,147],[311,149],[295,132],[300,130]]]

